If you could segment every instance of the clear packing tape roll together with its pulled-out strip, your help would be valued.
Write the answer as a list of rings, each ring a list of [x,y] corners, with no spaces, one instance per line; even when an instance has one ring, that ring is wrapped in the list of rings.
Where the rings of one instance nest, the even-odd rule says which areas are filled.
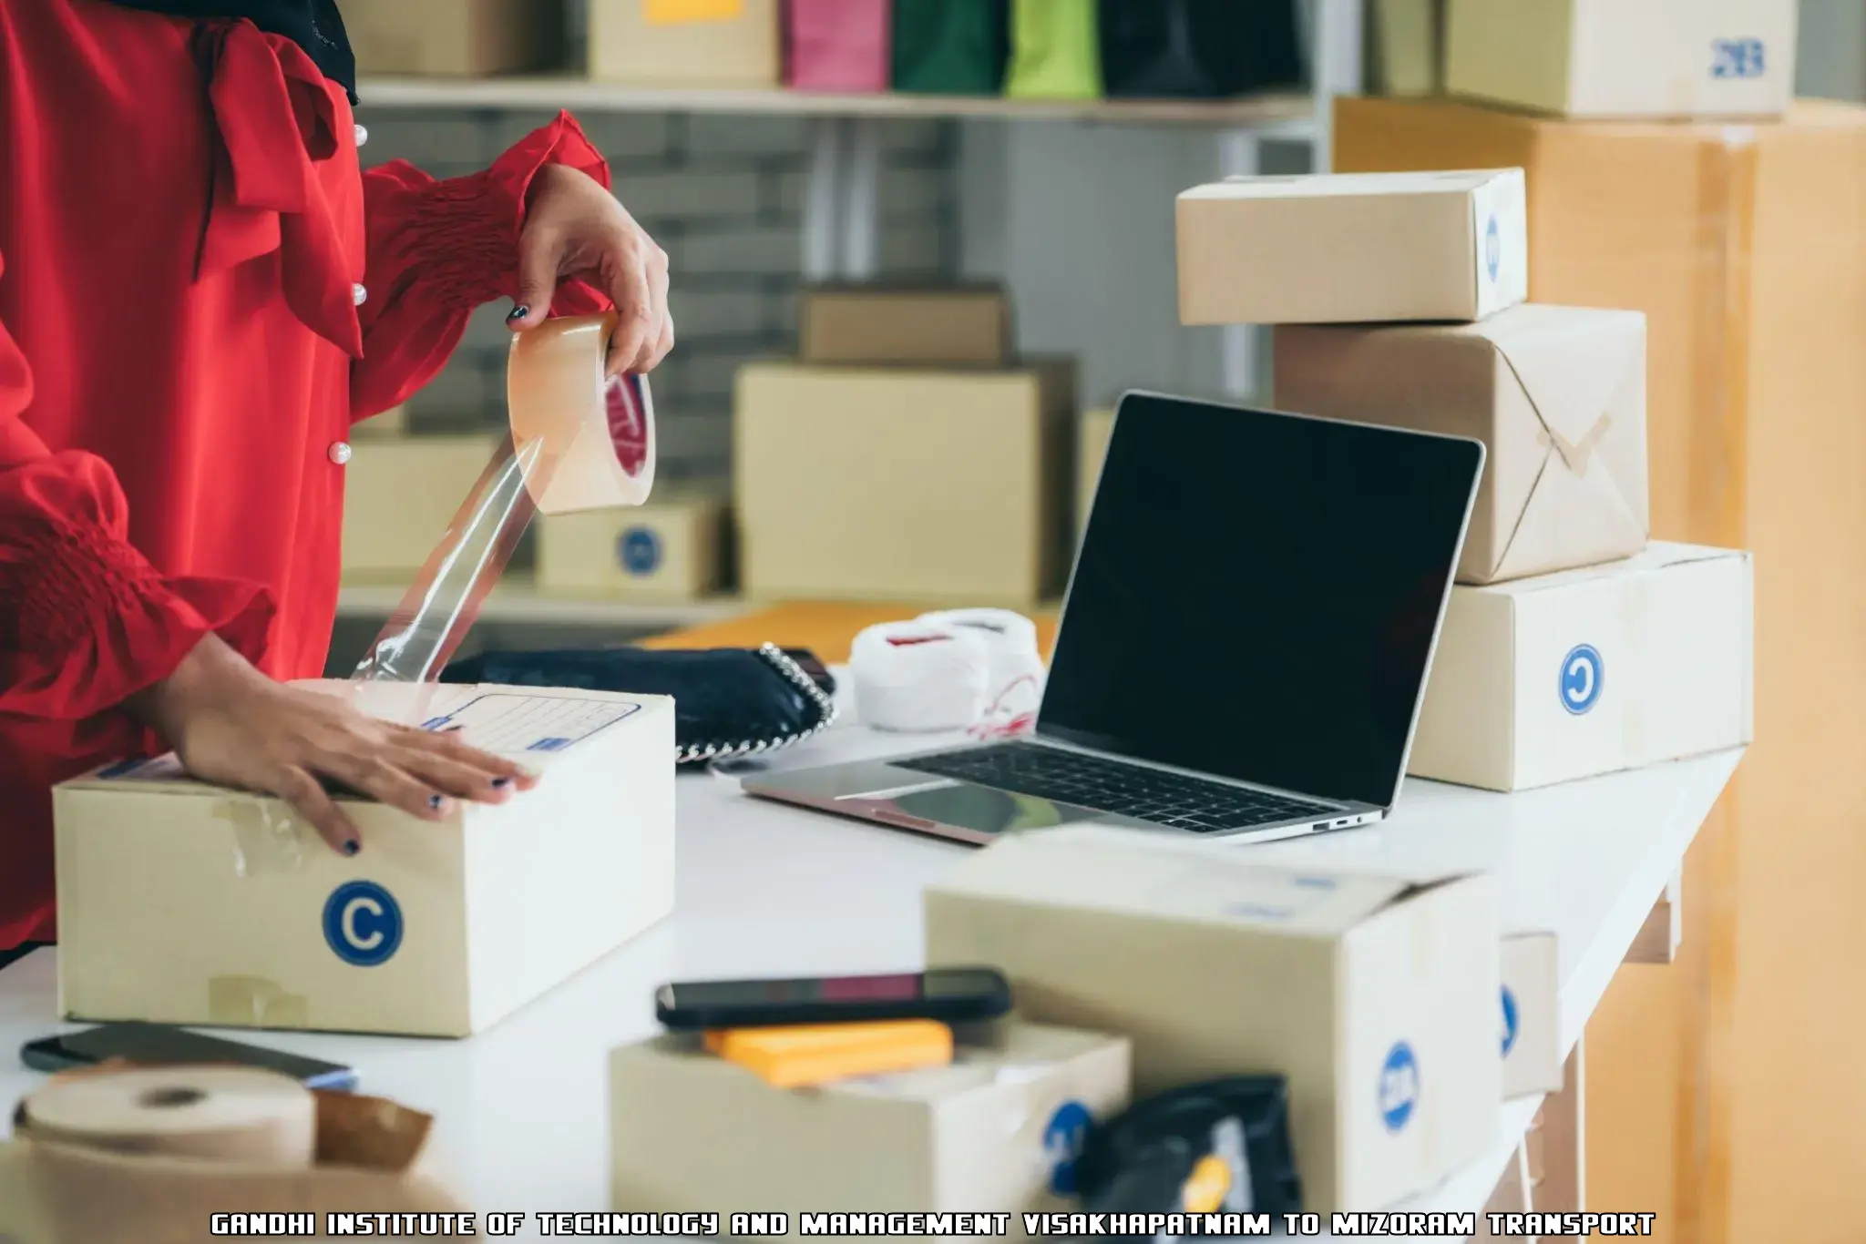
[[[614,311],[564,317],[513,338],[506,364],[509,435],[353,679],[439,679],[536,513],[648,500],[655,487],[655,403],[646,377],[605,375],[616,323]]]

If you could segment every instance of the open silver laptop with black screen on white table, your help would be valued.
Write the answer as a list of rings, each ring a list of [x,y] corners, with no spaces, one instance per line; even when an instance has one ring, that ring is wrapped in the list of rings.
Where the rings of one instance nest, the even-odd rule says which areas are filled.
[[[1476,440],[1129,394],[1034,735],[745,789],[968,843],[1379,821],[1482,472]]]

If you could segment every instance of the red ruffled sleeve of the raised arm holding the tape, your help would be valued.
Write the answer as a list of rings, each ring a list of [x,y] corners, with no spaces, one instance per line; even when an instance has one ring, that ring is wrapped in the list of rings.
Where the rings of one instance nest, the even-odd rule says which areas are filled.
[[[524,200],[547,164],[582,170],[608,188],[608,164],[567,112],[521,138],[483,173],[435,181],[394,160],[362,175],[369,300],[362,308],[364,356],[351,379],[353,418],[407,401],[446,366],[476,306],[517,295]],[[580,282],[552,300],[558,315],[608,306]]]

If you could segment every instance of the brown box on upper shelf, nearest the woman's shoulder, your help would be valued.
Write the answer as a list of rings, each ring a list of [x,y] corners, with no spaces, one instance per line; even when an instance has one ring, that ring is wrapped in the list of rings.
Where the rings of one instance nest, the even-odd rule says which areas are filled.
[[[343,0],[356,73],[470,78],[564,65],[564,0]]]

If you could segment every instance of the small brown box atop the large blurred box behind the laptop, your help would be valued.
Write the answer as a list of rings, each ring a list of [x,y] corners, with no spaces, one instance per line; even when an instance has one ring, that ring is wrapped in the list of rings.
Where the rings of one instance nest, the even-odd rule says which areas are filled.
[[[806,364],[1004,367],[1011,302],[998,285],[817,285],[802,293]]]

